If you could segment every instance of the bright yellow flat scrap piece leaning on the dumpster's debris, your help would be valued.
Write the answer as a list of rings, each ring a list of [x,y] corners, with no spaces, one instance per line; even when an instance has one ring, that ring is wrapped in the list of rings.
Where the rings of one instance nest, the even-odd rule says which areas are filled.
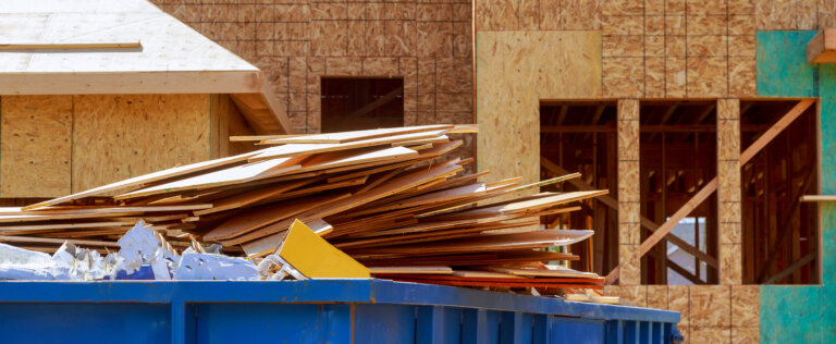
[[[329,244],[305,223],[291,224],[279,256],[310,279],[368,279],[369,269]]]

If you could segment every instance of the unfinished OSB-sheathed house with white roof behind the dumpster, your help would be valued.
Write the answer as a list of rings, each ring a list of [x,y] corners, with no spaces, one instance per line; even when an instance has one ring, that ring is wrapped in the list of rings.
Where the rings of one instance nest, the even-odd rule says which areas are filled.
[[[38,4],[0,11],[8,206],[230,135],[478,123],[478,170],[610,191],[541,226],[594,230],[573,268],[686,343],[836,339],[836,1]]]

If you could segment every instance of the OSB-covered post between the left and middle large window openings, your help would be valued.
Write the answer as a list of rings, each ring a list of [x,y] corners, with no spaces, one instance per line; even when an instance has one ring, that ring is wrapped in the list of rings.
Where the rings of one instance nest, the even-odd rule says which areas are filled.
[[[639,257],[639,100],[618,100],[618,262],[619,285],[641,284]]]

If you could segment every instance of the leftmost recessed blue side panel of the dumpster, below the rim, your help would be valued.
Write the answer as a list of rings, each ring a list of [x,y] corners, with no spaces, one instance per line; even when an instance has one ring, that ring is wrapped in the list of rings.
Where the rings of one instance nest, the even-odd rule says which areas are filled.
[[[0,283],[2,284],[2,283]],[[0,304],[2,343],[169,343],[169,305]]]

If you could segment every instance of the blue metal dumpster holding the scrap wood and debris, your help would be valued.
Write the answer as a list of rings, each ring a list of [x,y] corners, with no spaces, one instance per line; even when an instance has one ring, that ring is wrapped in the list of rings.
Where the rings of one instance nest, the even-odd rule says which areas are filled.
[[[0,282],[1,343],[671,343],[678,321],[383,280]]]

